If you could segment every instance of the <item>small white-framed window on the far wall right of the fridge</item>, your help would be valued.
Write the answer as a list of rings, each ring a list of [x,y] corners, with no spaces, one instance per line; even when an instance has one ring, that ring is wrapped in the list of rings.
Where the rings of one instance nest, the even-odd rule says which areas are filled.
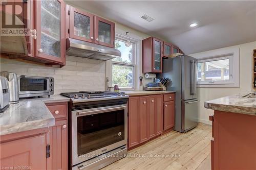
[[[239,87],[239,49],[232,53],[220,53],[210,57],[203,57],[202,54],[200,57],[192,55],[198,58],[199,87]],[[212,53],[214,54],[217,53]]]

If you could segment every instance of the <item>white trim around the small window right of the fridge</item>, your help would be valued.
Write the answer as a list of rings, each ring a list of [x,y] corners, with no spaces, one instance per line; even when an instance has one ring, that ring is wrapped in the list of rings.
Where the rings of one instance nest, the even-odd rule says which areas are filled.
[[[209,61],[213,58],[230,57],[229,61],[229,74],[232,75],[232,82],[213,83],[213,84],[200,84],[199,88],[239,88],[240,87],[240,48],[237,46],[219,48],[216,50],[190,54],[191,57],[195,57],[200,61]],[[207,57],[206,57],[207,56]],[[232,69],[232,70],[231,70]],[[231,73],[232,71],[232,73]]]

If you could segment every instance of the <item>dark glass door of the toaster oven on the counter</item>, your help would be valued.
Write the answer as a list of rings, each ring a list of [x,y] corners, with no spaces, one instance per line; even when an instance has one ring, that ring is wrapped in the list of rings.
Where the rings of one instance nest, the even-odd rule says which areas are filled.
[[[20,95],[49,93],[49,79],[47,78],[19,77],[18,86]]]

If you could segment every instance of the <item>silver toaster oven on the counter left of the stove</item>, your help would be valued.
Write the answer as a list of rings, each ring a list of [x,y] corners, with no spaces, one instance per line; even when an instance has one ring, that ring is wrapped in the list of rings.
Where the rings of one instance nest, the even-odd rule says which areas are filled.
[[[52,77],[35,77],[22,75],[18,79],[19,98],[52,95],[54,93]]]

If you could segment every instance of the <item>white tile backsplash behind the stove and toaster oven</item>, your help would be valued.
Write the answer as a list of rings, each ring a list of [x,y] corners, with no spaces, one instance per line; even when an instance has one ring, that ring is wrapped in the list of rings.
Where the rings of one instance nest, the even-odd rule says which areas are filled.
[[[45,76],[54,78],[54,94],[81,90],[105,90],[106,62],[67,56],[62,68],[31,64],[26,60],[1,58],[1,71],[18,76]]]

